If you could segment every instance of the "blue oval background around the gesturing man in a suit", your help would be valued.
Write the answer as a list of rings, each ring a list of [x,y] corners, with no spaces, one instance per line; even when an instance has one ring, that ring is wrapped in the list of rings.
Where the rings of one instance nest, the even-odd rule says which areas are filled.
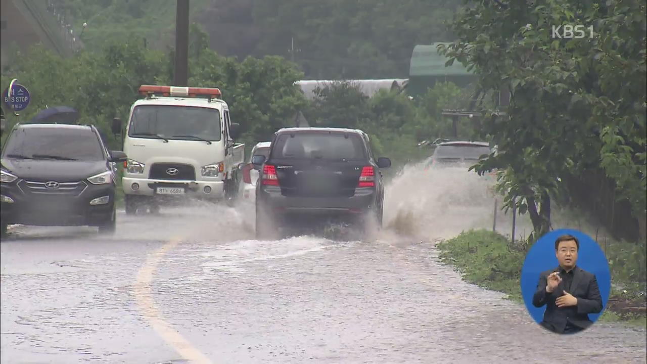
[[[581,231],[571,229],[559,229],[551,231],[542,236],[525,257],[523,267],[521,267],[521,295],[523,302],[531,314],[534,321],[541,323],[543,313],[546,310],[546,304],[541,307],[535,307],[532,304],[532,297],[538,290],[540,274],[544,271],[552,270],[559,267],[557,257],[555,256],[555,240],[564,234],[575,236],[580,242],[576,266],[595,275],[602,297],[602,311],[599,313],[589,313],[589,320],[597,321],[609,300],[611,292],[611,272],[609,271],[609,262],[604,255],[600,245],[587,234]]]

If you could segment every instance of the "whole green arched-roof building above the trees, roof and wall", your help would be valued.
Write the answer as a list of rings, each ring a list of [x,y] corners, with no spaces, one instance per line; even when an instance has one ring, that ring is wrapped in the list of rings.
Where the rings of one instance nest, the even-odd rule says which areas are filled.
[[[416,45],[411,54],[409,66],[409,93],[421,95],[436,82],[454,82],[461,87],[476,80],[476,74],[467,71],[460,62],[445,67],[448,58],[438,52],[438,45],[451,43],[432,43]]]

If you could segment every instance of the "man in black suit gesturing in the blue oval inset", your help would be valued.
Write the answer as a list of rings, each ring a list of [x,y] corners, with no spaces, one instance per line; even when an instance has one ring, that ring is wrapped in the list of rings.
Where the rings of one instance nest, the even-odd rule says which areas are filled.
[[[593,323],[589,313],[602,311],[602,297],[593,273],[576,266],[580,242],[573,235],[555,240],[559,266],[542,272],[532,305],[546,305],[541,325],[558,334],[575,334]]]

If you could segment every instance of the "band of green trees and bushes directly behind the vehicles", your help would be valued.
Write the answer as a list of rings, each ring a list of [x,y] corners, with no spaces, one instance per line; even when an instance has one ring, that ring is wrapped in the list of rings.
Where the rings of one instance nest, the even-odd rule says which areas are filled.
[[[451,124],[443,120],[441,109],[459,107],[469,98],[468,91],[453,84],[437,84],[415,100],[395,91],[381,91],[369,98],[357,85],[338,82],[319,89],[314,100],[307,100],[294,85],[303,74],[292,63],[278,56],[238,62],[208,49],[207,38],[192,28],[189,84],[221,88],[232,110],[232,121],[243,126],[242,141],[248,148],[269,140],[281,127],[294,126],[294,115],[302,111],[316,126],[367,131],[376,152],[393,160],[394,172],[408,161],[430,154],[430,150],[417,147],[422,139],[449,136]],[[146,49],[137,38],[71,58],[36,48],[25,59],[1,80],[6,85],[16,77],[30,90],[32,102],[20,120],[29,120],[45,106],[72,106],[78,109],[80,122],[96,124],[110,135],[116,149],[121,147],[120,141],[109,132],[110,120],[115,116],[127,120],[131,104],[140,97],[139,85],[169,84],[173,72],[172,52]],[[7,119],[9,126],[19,120],[13,115]],[[463,131],[474,133],[469,128]]]

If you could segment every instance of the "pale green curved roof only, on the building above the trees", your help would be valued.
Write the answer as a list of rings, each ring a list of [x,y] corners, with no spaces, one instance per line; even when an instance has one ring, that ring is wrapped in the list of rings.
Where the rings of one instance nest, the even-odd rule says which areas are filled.
[[[449,58],[439,54],[439,44],[450,45],[451,43],[432,43],[430,45],[416,45],[411,54],[409,76],[473,76],[460,62],[445,67]]]

